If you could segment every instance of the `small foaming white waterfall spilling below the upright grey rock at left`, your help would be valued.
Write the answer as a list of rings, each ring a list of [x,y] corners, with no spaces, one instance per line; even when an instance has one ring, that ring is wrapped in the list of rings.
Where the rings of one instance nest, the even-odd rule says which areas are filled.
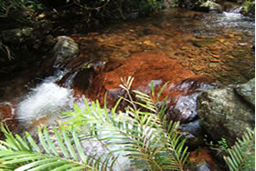
[[[41,118],[59,116],[61,111],[70,109],[74,101],[72,90],[55,83],[65,73],[49,76],[17,105],[17,119],[22,126],[26,128]]]

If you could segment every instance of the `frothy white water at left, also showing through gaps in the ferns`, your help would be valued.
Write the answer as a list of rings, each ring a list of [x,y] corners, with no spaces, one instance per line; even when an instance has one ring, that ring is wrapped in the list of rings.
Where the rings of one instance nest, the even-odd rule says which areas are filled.
[[[36,88],[31,89],[31,92],[27,97],[17,106],[17,119],[25,129],[31,130],[31,125],[37,123],[41,118],[48,118],[48,121],[44,124],[53,125],[60,116],[60,112],[72,110],[72,106],[76,101],[76,104],[80,106],[80,109],[86,109],[84,104],[84,98],[75,99],[73,91],[66,87],[60,87],[55,82],[61,79],[66,72],[60,72],[58,75],[50,76],[43,81]],[[35,127],[37,128],[37,126]],[[88,155],[104,156],[108,153],[107,149],[96,139],[91,139],[82,142],[84,152]],[[123,146],[108,146],[109,150],[119,149]],[[123,171],[132,170],[130,167],[130,160],[127,153],[122,152],[116,154],[119,155],[118,163],[123,167]],[[113,166],[113,170],[122,170],[120,166]]]

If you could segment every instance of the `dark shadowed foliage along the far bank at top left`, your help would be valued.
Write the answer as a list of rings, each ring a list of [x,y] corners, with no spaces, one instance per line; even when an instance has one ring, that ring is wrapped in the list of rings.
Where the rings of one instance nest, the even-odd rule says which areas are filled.
[[[19,18],[26,15],[22,19],[29,21],[45,10],[52,11],[58,19],[63,19],[65,22],[69,18],[75,18],[75,23],[84,24],[86,21],[90,27],[90,25],[101,25],[137,15],[148,15],[162,7],[164,7],[162,0],[2,0],[0,1],[0,18],[7,18],[9,15],[18,13]],[[51,18],[51,15],[48,17]]]

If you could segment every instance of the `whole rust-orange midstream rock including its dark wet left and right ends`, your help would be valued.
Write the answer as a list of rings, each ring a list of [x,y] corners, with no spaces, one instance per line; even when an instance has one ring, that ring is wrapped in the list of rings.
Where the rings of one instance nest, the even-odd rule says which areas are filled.
[[[144,93],[150,92],[152,80],[154,82],[155,92],[159,91],[168,82],[160,100],[163,100],[165,96],[169,97],[168,116],[180,121],[192,120],[197,116],[197,112],[194,111],[196,110],[197,95],[192,96],[193,102],[189,98],[196,91],[208,88],[207,84],[211,82],[205,76],[195,75],[191,70],[178,64],[176,60],[169,59],[165,55],[156,52],[137,53],[126,60],[112,59],[107,64],[101,66],[101,69],[98,68],[92,79],[90,79],[90,75],[87,75],[87,73],[82,73],[83,71],[74,79],[73,88],[76,95],[84,94],[92,100],[99,99],[102,104],[104,95],[108,92],[108,106],[113,106],[119,96],[125,96],[125,91],[119,86],[121,84],[121,78],[133,76],[132,89]],[[83,79],[85,79],[86,84],[83,83]],[[89,83],[89,79],[90,85],[87,88],[84,85]],[[179,100],[179,98],[181,99]],[[176,102],[178,100],[185,103],[178,106],[181,108],[176,108]],[[125,105],[127,104],[122,103],[120,109],[123,109]],[[193,107],[190,107],[190,105],[193,105]],[[193,108],[193,112],[190,111],[189,107]],[[182,114],[182,108],[189,110],[188,116],[187,114]]]

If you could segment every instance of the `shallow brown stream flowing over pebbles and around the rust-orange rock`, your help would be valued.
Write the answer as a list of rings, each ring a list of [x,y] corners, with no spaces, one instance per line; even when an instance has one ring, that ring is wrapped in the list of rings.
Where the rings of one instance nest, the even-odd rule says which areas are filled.
[[[186,118],[193,116],[186,122],[186,127],[198,125],[195,117],[196,100],[200,91],[216,85],[244,83],[254,77],[254,26],[254,19],[236,12],[207,14],[169,9],[146,18],[110,25],[100,31],[69,36],[79,44],[80,58],[85,61],[84,64],[89,61],[93,61],[93,65],[100,64],[99,61],[101,64],[110,60],[125,61],[133,54],[157,52],[192,71],[192,76],[210,77],[213,80],[210,84],[184,82],[176,85],[175,82],[169,85],[170,89],[178,89],[179,92],[186,89],[186,93],[180,94],[170,107],[182,109],[180,113]],[[85,107],[83,100],[88,96],[78,96],[72,86],[75,77],[73,74],[80,71],[74,69],[76,66],[77,64],[73,64],[64,69],[55,67],[54,74],[43,80],[37,77],[27,79],[25,72],[14,80],[2,83],[2,120],[6,120],[16,132],[31,131],[38,125],[55,124],[59,113],[72,110],[74,103],[81,108]],[[115,65],[112,67],[114,70]],[[37,72],[37,69],[31,72]],[[73,77],[66,79],[65,75]],[[59,85],[59,81],[63,80],[65,84]],[[159,80],[155,79],[155,84],[165,81]],[[190,121],[195,121],[196,124],[189,124]]]

